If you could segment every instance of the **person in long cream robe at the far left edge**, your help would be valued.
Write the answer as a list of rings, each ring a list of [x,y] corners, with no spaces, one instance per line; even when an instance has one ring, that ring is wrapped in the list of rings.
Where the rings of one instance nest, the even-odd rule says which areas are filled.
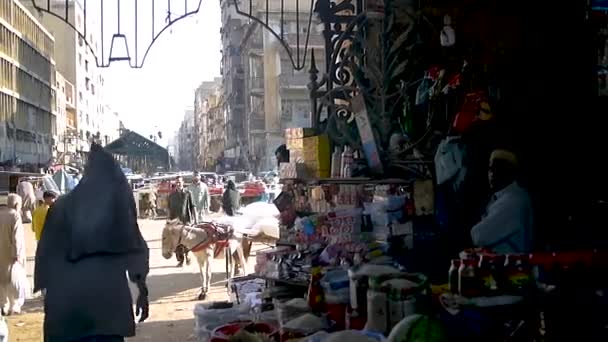
[[[18,262],[25,268],[25,232],[21,222],[21,197],[9,194],[0,207],[0,309],[4,314],[21,312],[25,298],[11,283],[11,268]]]

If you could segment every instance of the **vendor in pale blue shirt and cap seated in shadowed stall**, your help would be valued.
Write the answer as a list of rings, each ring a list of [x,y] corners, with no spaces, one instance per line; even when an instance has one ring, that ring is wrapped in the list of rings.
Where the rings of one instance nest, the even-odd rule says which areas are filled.
[[[528,253],[532,249],[532,205],[528,192],[517,183],[514,153],[495,150],[488,177],[492,198],[481,221],[471,229],[473,244],[497,253]]]

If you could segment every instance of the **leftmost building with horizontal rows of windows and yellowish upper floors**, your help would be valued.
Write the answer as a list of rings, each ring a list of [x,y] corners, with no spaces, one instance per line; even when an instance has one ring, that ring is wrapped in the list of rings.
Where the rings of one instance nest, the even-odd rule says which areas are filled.
[[[16,0],[0,1],[0,160],[45,164],[56,135],[55,41]]]

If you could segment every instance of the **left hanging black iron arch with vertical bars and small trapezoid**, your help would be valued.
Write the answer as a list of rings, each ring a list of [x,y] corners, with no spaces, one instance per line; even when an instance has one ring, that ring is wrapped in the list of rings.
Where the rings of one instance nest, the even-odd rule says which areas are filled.
[[[96,8],[92,6],[89,7],[89,3],[93,3]],[[39,13],[48,13],[49,15],[58,18],[63,21],[65,24],[70,26],[74,32],[78,35],[79,39],[82,39],[89,51],[93,54],[95,58],[95,63],[97,67],[107,68],[110,66],[112,62],[115,61],[128,61],[129,66],[131,68],[139,69],[142,68],[148,53],[150,52],[152,45],[156,42],[156,40],[160,37],[160,35],[169,29],[173,24],[185,19],[191,15],[197,14],[200,10],[202,0],[131,0],[125,1],[128,2],[130,7],[123,6],[121,0],[31,0],[32,6]],[[104,4],[112,3],[115,5],[116,16],[114,17],[116,20],[116,26],[114,27],[114,32],[111,33],[110,47],[106,49],[106,30],[107,27],[104,27],[104,23],[106,21],[107,14],[105,13]],[[162,4],[165,4],[162,6]],[[173,4],[173,6],[172,6]],[[180,4],[180,6],[177,6]],[[75,17],[75,13],[70,13],[70,8],[73,6],[79,6],[83,13],[83,24],[79,25],[79,23],[75,22],[73,19]],[[98,7],[97,7],[98,6]],[[149,17],[149,43],[145,46],[145,51],[143,54],[140,53],[140,20],[139,20],[139,12],[142,8],[141,6],[147,6],[150,10]],[[133,32],[130,34],[125,34],[124,26],[121,27],[121,12],[124,10],[131,10],[133,12],[134,18],[134,26],[132,27]],[[160,10],[159,10],[160,9]],[[97,25],[93,25],[90,27],[90,20],[87,20],[87,14],[96,13],[99,19],[98,27]],[[164,16],[164,24],[160,26],[157,25],[157,19],[159,19],[159,14]],[[112,18],[112,17],[111,17]],[[89,17],[90,19],[90,17]],[[81,27],[79,27],[81,26]],[[113,25],[114,26],[114,25]],[[100,34],[101,46],[98,49],[96,44],[92,42],[89,37],[91,37],[88,33],[91,30],[98,30],[97,32]],[[112,29],[110,29],[112,31]],[[129,50],[129,41],[132,41],[134,44],[134,58],[131,58],[130,50]],[[125,48],[124,55],[113,55],[114,49],[116,47],[115,44],[123,44]],[[107,55],[106,55],[107,51]],[[141,58],[140,58],[141,56]]]

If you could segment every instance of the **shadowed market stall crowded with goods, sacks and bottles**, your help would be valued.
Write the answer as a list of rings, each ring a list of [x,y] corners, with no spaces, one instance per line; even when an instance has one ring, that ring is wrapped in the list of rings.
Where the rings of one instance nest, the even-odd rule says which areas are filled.
[[[230,318],[204,326],[203,317],[219,317],[219,309],[197,308],[199,336],[608,340],[600,276],[608,254],[603,242],[589,243],[588,236],[593,248],[565,251],[569,241],[563,237],[548,244],[547,236],[558,236],[551,228],[572,227],[569,236],[578,235],[565,219],[576,201],[558,203],[571,197],[550,196],[567,186],[541,162],[547,159],[539,151],[554,153],[550,143],[533,142],[543,126],[526,126],[526,115],[546,112],[537,94],[558,107],[549,91],[536,92],[538,84],[530,82],[536,70],[558,80],[543,64],[549,59],[543,49],[558,44],[543,13],[564,21],[569,16],[556,6],[524,7],[498,1],[316,2],[327,74],[318,75],[313,53],[312,122],[285,131],[289,160],[280,164],[283,189],[274,200],[280,239],[256,254],[254,274],[231,279],[233,301],[223,309]],[[583,32],[589,13],[582,6],[570,10],[580,17],[567,22]],[[535,30],[539,21],[543,28]],[[568,38],[588,54],[588,46],[574,40]],[[587,66],[568,72],[585,74]],[[583,88],[592,89],[585,77],[579,78]],[[574,101],[564,101],[575,108]],[[514,130],[518,125],[526,127]],[[581,175],[575,169],[568,166],[568,175]],[[504,170],[511,178],[497,185]],[[520,178],[524,173],[527,179]],[[536,187],[528,186],[531,180]],[[549,180],[555,181],[551,191]],[[538,211],[532,211],[532,197],[545,200]],[[500,220],[490,215],[497,208],[515,210]],[[531,219],[537,213],[541,229]],[[490,242],[477,234],[511,229],[513,217],[521,218],[516,234]],[[234,323],[245,313],[254,319]]]

